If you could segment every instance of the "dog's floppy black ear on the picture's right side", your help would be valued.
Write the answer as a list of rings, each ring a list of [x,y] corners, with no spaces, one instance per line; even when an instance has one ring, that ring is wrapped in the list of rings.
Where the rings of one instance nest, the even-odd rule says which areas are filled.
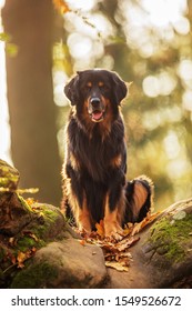
[[[124,81],[115,73],[112,72],[112,81],[113,81],[113,90],[114,90],[114,97],[117,99],[117,104],[121,104],[121,101],[123,98],[125,98],[128,88]]]

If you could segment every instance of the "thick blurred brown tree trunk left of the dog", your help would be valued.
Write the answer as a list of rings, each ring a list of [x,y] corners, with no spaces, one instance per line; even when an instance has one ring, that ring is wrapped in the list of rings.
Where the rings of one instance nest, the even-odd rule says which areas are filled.
[[[21,185],[38,187],[38,199],[59,204],[60,159],[52,86],[51,0],[7,0],[4,31],[18,54],[7,53],[11,152]]]

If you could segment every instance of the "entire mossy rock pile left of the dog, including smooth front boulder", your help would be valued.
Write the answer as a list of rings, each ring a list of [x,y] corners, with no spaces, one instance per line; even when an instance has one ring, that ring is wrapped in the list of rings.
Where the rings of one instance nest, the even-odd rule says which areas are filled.
[[[81,242],[58,208],[19,195],[19,172],[3,161],[0,178],[0,287],[102,287],[102,250]]]

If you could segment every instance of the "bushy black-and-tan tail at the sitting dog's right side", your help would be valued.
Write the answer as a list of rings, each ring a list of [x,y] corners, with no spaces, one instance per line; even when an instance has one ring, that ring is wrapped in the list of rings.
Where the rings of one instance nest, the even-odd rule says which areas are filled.
[[[153,192],[153,182],[146,175],[140,175],[127,182],[124,223],[140,222],[152,210]]]

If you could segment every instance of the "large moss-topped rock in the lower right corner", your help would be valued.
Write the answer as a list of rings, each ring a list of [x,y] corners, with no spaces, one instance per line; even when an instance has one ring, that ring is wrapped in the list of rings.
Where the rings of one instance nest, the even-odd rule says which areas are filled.
[[[108,288],[192,288],[192,199],[165,209],[139,237],[129,272],[109,269]]]

